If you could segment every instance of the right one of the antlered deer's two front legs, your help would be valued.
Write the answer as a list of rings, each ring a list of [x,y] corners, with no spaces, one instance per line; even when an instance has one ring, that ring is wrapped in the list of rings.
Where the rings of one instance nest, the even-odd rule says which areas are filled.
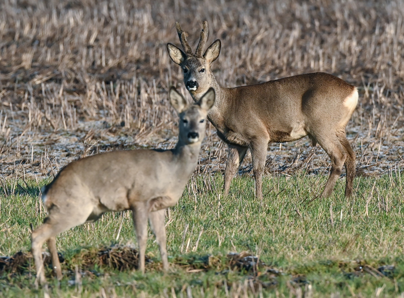
[[[256,198],[262,200],[262,175],[267,157],[267,140],[257,140],[250,143],[252,157],[252,172],[256,180]]]

